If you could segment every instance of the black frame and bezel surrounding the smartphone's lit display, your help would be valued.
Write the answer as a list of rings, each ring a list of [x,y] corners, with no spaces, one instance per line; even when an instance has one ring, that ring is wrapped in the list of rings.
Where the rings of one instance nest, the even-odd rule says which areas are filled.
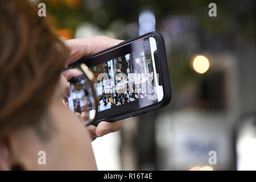
[[[162,78],[163,82],[163,99],[160,102],[157,102],[152,105],[143,106],[143,107],[137,107],[139,105],[139,102],[142,103],[141,100],[133,101],[128,104],[120,105],[117,107],[114,107],[112,109],[107,109],[104,111],[100,111],[97,114],[97,118],[94,121],[94,125],[97,125],[100,121],[108,121],[108,122],[114,122],[118,121],[119,119],[125,119],[128,117],[134,117],[139,114],[146,113],[150,110],[155,110],[160,107],[164,107],[169,104],[172,97],[172,91],[171,91],[171,83],[170,83],[170,76],[169,76],[169,70],[168,70],[168,64],[167,64],[167,56],[166,56],[166,48],[164,45],[164,39],[162,35],[160,35],[158,32],[149,32],[147,34],[144,34],[142,36],[139,36],[134,39],[126,40],[125,42],[122,42],[118,44],[117,46],[110,47],[108,49],[105,49],[104,51],[95,53],[90,56],[82,57],[80,60],[77,60],[76,62],[69,64],[69,67],[74,67],[77,64],[85,63],[86,65],[96,66],[99,63],[94,63],[93,58],[98,56],[104,56],[104,53],[115,51],[116,49],[122,48],[124,46],[127,46],[128,44],[134,43],[138,40],[153,37],[156,40],[156,47],[158,50],[158,59],[155,59],[155,64],[159,64],[160,73],[159,77]],[[101,63],[104,63],[107,59],[102,59]],[[158,61],[158,63],[156,63]],[[115,111],[114,111],[115,110]],[[125,110],[125,111],[123,111]]]

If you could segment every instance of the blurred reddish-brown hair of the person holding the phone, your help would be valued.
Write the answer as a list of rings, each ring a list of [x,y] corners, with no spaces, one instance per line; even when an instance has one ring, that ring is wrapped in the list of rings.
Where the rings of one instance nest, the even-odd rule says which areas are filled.
[[[69,50],[27,0],[0,0],[0,140],[39,122]]]

